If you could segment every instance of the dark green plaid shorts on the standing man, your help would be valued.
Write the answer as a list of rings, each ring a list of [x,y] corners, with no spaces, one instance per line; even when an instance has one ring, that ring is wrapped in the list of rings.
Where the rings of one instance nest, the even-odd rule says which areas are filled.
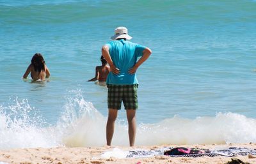
[[[108,108],[120,109],[123,101],[125,109],[138,108],[138,84],[113,85],[108,84]]]

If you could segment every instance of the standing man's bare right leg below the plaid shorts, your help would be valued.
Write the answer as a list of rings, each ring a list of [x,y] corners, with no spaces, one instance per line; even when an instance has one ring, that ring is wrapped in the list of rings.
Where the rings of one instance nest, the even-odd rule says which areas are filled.
[[[128,133],[130,146],[134,146],[135,136],[136,136],[136,110],[128,109],[126,110],[126,116],[128,121]]]

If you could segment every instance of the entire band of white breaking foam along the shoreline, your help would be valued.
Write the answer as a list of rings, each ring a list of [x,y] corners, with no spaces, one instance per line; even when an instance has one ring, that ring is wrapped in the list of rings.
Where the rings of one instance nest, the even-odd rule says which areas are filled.
[[[27,100],[0,106],[0,149],[22,147],[102,146],[106,120],[83,96],[68,98],[60,121],[47,126]],[[33,113],[33,114],[31,114]],[[256,120],[241,114],[184,119],[178,116],[156,124],[138,124],[136,145],[225,144],[256,142]],[[129,145],[127,123],[117,121],[113,145]]]

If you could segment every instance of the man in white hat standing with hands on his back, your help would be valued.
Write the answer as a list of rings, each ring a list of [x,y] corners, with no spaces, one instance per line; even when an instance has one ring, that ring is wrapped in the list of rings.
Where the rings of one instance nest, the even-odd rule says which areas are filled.
[[[110,66],[106,84],[108,86],[108,123],[106,126],[107,145],[111,145],[118,110],[123,101],[129,126],[130,146],[136,135],[136,109],[138,108],[138,80],[136,70],[152,53],[147,48],[132,43],[126,27],[117,27],[115,35],[102,47],[102,56]],[[137,61],[138,57],[140,59]]]

